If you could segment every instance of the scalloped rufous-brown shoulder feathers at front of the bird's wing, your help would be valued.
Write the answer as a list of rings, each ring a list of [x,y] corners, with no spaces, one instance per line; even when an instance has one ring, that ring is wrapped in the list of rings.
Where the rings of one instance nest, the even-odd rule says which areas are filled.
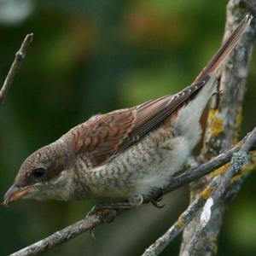
[[[116,154],[131,132],[135,119],[133,109],[96,115],[68,132],[73,152],[88,156],[92,166],[101,165]]]

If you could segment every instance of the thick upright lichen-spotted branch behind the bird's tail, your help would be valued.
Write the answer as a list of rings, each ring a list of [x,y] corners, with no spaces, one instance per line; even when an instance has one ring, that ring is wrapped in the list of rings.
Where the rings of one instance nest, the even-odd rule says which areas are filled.
[[[248,12],[255,14],[256,9],[253,0],[230,0],[227,6],[227,21],[224,38],[228,37],[234,30],[241,18]],[[256,23],[255,19],[242,38],[236,49],[230,54],[226,64],[221,70],[218,79],[218,88],[225,93],[215,101],[211,102],[209,116],[207,120],[207,130],[204,137],[204,147],[201,151],[201,159],[211,159],[219,152],[237,142],[241,126],[242,102],[246,91],[246,80],[250,58],[255,40]],[[196,198],[201,190],[211,182],[212,177],[203,177],[192,183],[190,186],[191,198]],[[244,179],[242,179],[244,180]],[[240,183],[241,184],[241,183]],[[227,193],[232,191],[232,198],[238,193],[240,186],[230,186]],[[224,218],[224,211],[229,206],[224,196],[218,201],[217,207],[212,209],[210,223],[204,229],[195,244],[195,249],[190,255],[210,256],[216,250],[218,232]],[[197,214],[191,224],[183,232],[183,245],[180,255],[183,255],[185,248],[195,235],[201,223],[201,216]]]

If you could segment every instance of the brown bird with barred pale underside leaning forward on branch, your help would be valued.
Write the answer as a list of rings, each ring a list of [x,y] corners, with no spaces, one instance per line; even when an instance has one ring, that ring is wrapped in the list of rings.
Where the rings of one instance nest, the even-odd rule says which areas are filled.
[[[219,67],[241,40],[246,15],[195,81],[174,95],[97,114],[29,155],[3,198],[127,201],[139,206],[181,170],[201,139],[200,119]]]

